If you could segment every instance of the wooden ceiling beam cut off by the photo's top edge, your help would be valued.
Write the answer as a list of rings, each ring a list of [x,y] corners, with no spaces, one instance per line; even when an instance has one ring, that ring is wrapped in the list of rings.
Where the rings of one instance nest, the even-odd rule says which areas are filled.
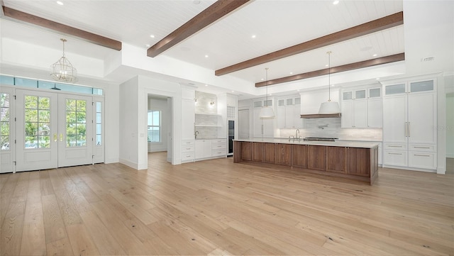
[[[250,0],[218,0],[211,4],[207,9],[197,14],[194,18],[184,23],[181,27],[174,30],[172,33],[162,38],[159,42],[155,43],[152,47],[148,48],[147,56],[156,57],[165,50],[171,48],[182,40],[194,35],[202,28],[209,26],[219,18],[226,16],[231,11],[238,9],[243,4]]]

